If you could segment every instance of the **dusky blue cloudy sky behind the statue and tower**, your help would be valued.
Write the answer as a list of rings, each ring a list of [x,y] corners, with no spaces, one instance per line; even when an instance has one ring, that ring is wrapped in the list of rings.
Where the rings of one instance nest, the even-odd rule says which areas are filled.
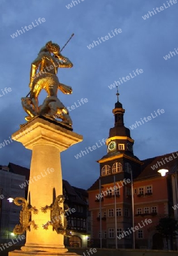
[[[59,80],[72,86],[73,94],[59,91],[58,98],[66,107],[78,106],[69,113],[73,129],[83,135],[83,142],[61,153],[62,175],[71,185],[87,189],[99,176],[96,160],[107,154],[107,147],[103,145],[79,159],[75,155],[108,138],[109,129],[114,125],[112,109],[117,101],[116,88],[109,87],[115,81],[120,81],[119,98],[125,109],[126,127],[151,113],[154,116],[130,129],[135,141],[134,154],[143,160],[177,151],[178,2],[77,2],[0,1],[0,143],[26,122],[20,99],[29,92],[31,62],[40,48],[49,40],[62,47],[74,33],[62,51],[74,67],[58,69]],[[39,18],[45,22],[37,23]],[[25,30],[29,25],[32,28]],[[11,35],[22,27],[23,34],[19,32],[13,39]],[[92,43],[93,47],[89,46]],[[170,51],[172,56],[165,60]],[[138,75],[136,69],[142,72]],[[11,91],[6,93],[5,88]],[[40,94],[40,103],[45,97],[44,91]],[[82,98],[87,100],[79,106]],[[155,117],[158,109],[164,109],[164,113]],[[0,164],[9,162],[29,168],[31,151],[21,143],[7,143],[0,148]]]

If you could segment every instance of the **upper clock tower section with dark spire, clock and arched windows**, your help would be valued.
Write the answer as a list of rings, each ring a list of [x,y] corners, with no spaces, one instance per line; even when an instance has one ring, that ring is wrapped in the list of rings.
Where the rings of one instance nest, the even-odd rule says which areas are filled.
[[[115,126],[109,130],[109,137],[106,140],[107,155],[98,160],[100,163],[100,176],[103,182],[105,179],[112,179],[112,175],[117,175],[118,179],[124,179],[133,171],[133,177],[137,176],[141,170],[142,162],[133,153],[134,140],[130,136],[130,130],[124,126],[125,109],[122,108],[118,100],[112,113],[115,117]],[[107,177],[106,177],[107,176]]]

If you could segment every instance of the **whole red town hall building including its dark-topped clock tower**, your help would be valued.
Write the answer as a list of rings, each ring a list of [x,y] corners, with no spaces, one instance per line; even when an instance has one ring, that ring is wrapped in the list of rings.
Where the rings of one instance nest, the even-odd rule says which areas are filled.
[[[88,189],[92,246],[167,249],[155,226],[163,217],[177,220],[178,153],[139,160],[133,154],[130,130],[124,126],[124,113],[117,100],[113,109],[115,127],[109,130],[106,142],[107,155],[98,160],[99,179]],[[162,177],[160,169],[169,172]],[[173,205],[177,205],[175,210]],[[146,219],[151,223],[146,224]],[[138,228],[133,232],[134,226]],[[169,248],[178,249],[176,240],[169,243]]]

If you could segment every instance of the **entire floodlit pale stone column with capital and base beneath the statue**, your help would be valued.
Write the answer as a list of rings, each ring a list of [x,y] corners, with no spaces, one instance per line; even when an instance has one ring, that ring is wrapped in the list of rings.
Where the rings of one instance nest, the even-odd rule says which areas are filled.
[[[30,131],[24,134],[22,132],[24,129]],[[27,230],[25,246],[21,250],[11,251],[9,256],[77,255],[67,253],[63,245],[63,234],[53,231],[52,225],[44,229],[43,225],[50,221],[50,210],[44,213],[41,208],[52,205],[56,197],[62,195],[60,152],[81,142],[82,135],[74,133],[65,123],[47,116],[37,116],[12,134],[12,139],[32,150],[28,204],[36,207],[39,212],[38,214],[32,212],[31,216],[37,229],[31,225],[30,230]],[[60,207],[63,209],[63,203]],[[61,221],[63,225],[63,216]]]

